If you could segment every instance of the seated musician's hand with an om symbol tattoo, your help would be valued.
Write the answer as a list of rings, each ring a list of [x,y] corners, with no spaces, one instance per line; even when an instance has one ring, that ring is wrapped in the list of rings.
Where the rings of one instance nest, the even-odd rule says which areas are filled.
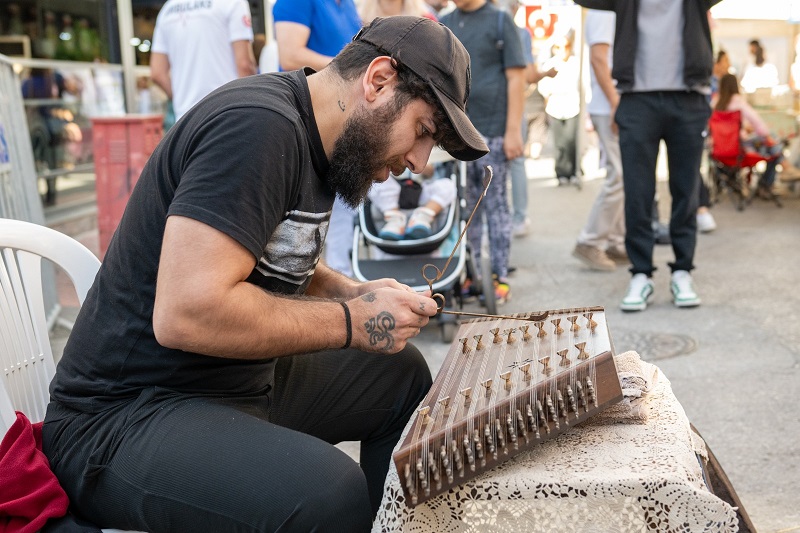
[[[417,294],[406,285],[386,279],[364,286],[379,288],[347,302],[353,327],[350,345],[354,348],[397,353],[436,315],[436,301],[429,297],[429,291]]]

